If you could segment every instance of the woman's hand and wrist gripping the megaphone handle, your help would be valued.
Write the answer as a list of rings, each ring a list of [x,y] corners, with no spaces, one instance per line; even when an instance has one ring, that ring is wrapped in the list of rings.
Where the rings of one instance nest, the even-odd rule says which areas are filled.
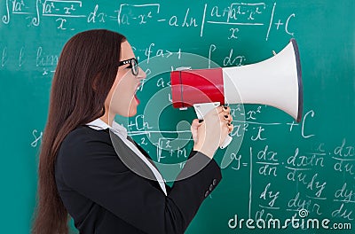
[[[203,121],[193,120],[193,150],[213,158],[217,148],[224,143],[225,137],[233,131],[229,106],[218,106],[204,116]]]

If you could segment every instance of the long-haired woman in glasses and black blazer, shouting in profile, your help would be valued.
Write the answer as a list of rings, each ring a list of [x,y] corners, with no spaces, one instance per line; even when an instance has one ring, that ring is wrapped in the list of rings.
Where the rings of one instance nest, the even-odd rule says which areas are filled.
[[[146,152],[114,122],[115,114],[136,114],[135,93],[145,77],[123,35],[90,30],[66,43],[51,87],[33,233],[67,233],[68,214],[85,234],[185,231],[221,179],[211,159],[232,131],[232,117],[220,106],[193,121],[193,160],[169,188]]]

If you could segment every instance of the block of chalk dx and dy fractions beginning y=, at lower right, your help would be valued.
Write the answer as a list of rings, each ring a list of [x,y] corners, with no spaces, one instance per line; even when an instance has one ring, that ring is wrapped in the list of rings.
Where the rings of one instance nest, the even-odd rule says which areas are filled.
[[[269,220],[275,218],[274,211],[286,210],[291,216],[305,209],[313,215],[350,222],[355,219],[355,147],[347,144],[345,138],[328,151],[320,143],[314,152],[301,152],[296,147],[291,155],[280,155],[264,144],[264,148],[250,146],[248,154],[233,152],[230,157],[232,170],[248,170],[249,218]],[[328,175],[332,179],[339,176],[343,182],[328,186]],[[269,179],[263,185],[257,176]],[[284,191],[280,183],[285,184],[282,187],[294,183],[297,189],[295,193]]]

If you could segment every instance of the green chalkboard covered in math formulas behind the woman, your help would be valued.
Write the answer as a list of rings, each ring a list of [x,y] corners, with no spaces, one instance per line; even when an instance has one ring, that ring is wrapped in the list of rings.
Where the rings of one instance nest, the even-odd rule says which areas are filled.
[[[258,233],[264,224],[263,233],[353,233],[354,9],[353,0],[0,1],[2,233],[30,229],[52,75],[64,43],[91,28],[126,35],[148,74],[138,115],[118,121],[154,160],[177,164],[193,145],[195,115],[171,106],[171,69],[253,64],[296,38],[302,120],[231,105],[233,142],[215,158],[232,161],[186,233]]]

